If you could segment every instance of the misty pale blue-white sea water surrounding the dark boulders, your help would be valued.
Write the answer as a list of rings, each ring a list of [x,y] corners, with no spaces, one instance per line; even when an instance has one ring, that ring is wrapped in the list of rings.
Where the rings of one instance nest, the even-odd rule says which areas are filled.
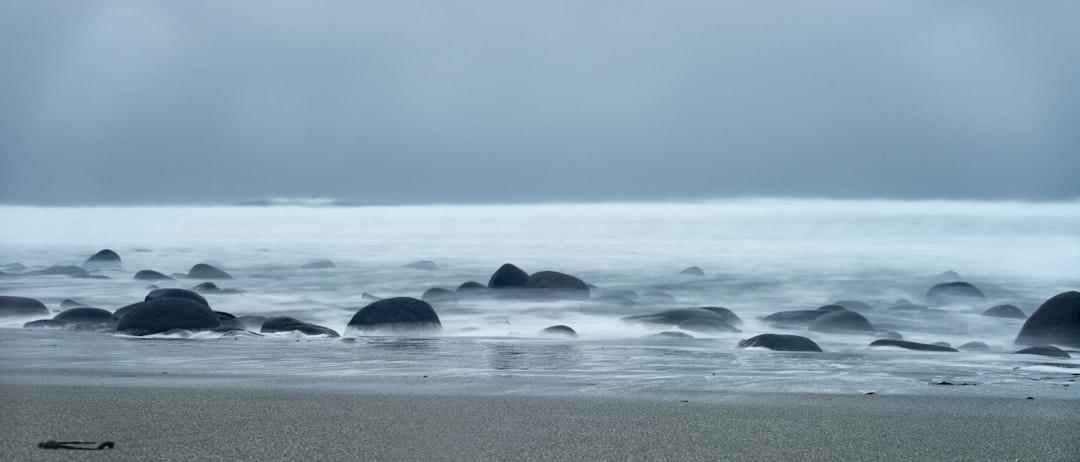
[[[149,375],[165,384],[343,386],[426,393],[599,393],[714,396],[751,392],[974,393],[1080,397],[1071,359],[1014,354],[1023,320],[982,315],[1011,303],[1030,314],[1080,288],[1080,202],[988,203],[745,199],[694,203],[342,206],[259,201],[258,206],[0,207],[0,294],[32,297],[53,312],[72,299],[116,310],[152,288],[144,269],[189,288],[200,262],[221,268],[230,294],[205,297],[235,315],[287,315],[346,332],[376,297],[486,284],[502,263],[572,274],[592,300],[462,297],[435,301],[443,324],[423,338],[333,339],[299,334],[150,338],[25,329],[0,318],[8,381],[122,384]],[[32,275],[80,266],[103,248],[122,270],[107,278]],[[332,269],[301,269],[328,259]],[[430,260],[437,270],[406,267]],[[15,266],[14,263],[18,263]],[[704,275],[681,274],[696,266]],[[959,278],[985,300],[930,311],[936,283]],[[672,299],[642,297],[663,293]],[[613,302],[619,294],[632,302]],[[637,295],[638,297],[635,297]],[[869,335],[767,325],[761,317],[837,300],[874,307],[879,329],[918,342],[969,341],[989,352],[870,349]],[[621,321],[673,308],[724,307],[741,332],[650,337],[671,326]],[[540,335],[566,325],[579,337]],[[738,349],[741,339],[795,334],[823,353]],[[71,371],[85,371],[70,377]],[[940,383],[953,383],[942,385]],[[962,384],[962,385],[961,385]],[[1023,396],[1022,396],[1023,395]]]

